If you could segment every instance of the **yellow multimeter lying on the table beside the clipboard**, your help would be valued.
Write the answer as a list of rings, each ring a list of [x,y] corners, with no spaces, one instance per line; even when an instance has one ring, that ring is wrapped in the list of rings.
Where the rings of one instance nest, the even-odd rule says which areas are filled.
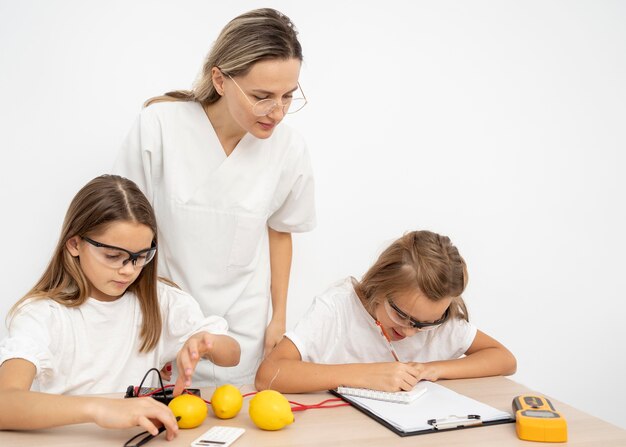
[[[567,423],[545,397],[521,395],[513,399],[517,436],[526,441],[565,442]]]

